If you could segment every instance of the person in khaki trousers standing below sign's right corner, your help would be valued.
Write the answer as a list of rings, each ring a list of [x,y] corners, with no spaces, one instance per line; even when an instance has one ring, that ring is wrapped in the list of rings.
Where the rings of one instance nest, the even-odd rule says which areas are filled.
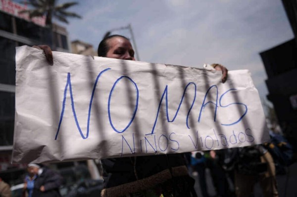
[[[237,148],[238,157],[235,170],[237,197],[250,197],[257,181],[263,197],[279,197],[275,165],[270,153],[263,145]]]

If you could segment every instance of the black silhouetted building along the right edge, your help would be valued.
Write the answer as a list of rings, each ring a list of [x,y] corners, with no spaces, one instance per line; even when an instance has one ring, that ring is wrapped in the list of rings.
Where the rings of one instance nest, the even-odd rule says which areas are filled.
[[[267,99],[274,109],[283,133],[297,142],[297,1],[282,0],[294,39],[260,53],[268,76]]]

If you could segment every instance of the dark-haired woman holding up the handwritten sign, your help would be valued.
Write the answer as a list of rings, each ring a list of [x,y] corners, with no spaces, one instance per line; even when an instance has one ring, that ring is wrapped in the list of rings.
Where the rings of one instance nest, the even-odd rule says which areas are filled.
[[[45,51],[53,64],[49,46],[36,48]],[[112,35],[104,38],[98,47],[101,57],[135,60],[133,47],[126,37]],[[213,64],[227,79],[227,69]],[[104,189],[102,197],[196,197],[194,179],[188,174],[183,154],[102,159]]]

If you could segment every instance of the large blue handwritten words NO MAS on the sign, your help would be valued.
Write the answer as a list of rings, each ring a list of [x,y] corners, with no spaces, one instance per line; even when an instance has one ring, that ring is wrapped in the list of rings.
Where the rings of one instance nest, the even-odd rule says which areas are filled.
[[[59,130],[60,130],[60,126],[61,126],[61,123],[62,123],[62,119],[63,119],[63,115],[64,115],[64,110],[65,110],[65,104],[66,104],[66,96],[67,96],[67,92],[68,92],[68,88],[69,88],[69,92],[70,92],[70,98],[71,98],[71,106],[72,106],[72,112],[73,112],[73,117],[75,119],[75,122],[76,122],[76,126],[77,126],[77,129],[81,135],[81,137],[83,139],[87,139],[89,137],[89,126],[90,126],[90,118],[91,118],[91,109],[92,109],[92,103],[93,103],[93,98],[94,98],[94,94],[95,94],[95,91],[96,91],[96,86],[99,82],[99,79],[100,77],[110,71],[111,69],[110,68],[107,68],[103,71],[101,71],[99,73],[99,75],[97,76],[96,80],[95,80],[95,83],[94,83],[94,86],[93,86],[93,90],[92,90],[92,95],[91,95],[91,99],[90,99],[90,103],[89,103],[89,113],[88,113],[88,121],[87,121],[87,132],[86,132],[86,135],[84,135],[83,131],[81,130],[81,126],[79,124],[79,121],[78,121],[78,118],[76,116],[76,111],[75,111],[75,106],[74,106],[74,98],[73,98],[73,93],[72,93],[72,85],[71,85],[71,75],[70,73],[67,74],[67,82],[66,82],[66,85],[65,85],[65,88],[64,88],[64,96],[63,96],[63,101],[62,101],[62,110],[61,110],[61,114],[60,114],[60,118],[59,118],[59,123],[58,123],[58,128],[57,128],[57,131],[56,131],[56,135],[55,135],[55,140],[57,139],[58,137],[58,134],[59,134]],[[111,99],[113,99],[113,91],[114,89],[116,88],[117,84],[119,81],[121,81],[122,79],[128,79],[132,84],[133,86],[135,87],[135,97],[136,97],[136,102],[135,102],[135,106],[134,106],[134,112],[132,114],[132,117],[129,121],[129,123],[127,124],[127,126],[124,128],[124,129],[117,129],[116,128],[116,125],[114,125],[113,121],[112,121],[112,118],[111,118],[111,113],[110,113],[110,101]],[[161,104],[162,102],[165,102],[165,106],[166,106],[166,117],[167,117],[167,122],[174,122],[175,118],[177,117],[178,115],[178,112],[180,110],[180,107],[184,101],[184,97],[185,97],[185,94],[187,92],[187,89],[189,86],[194,86],[194,98],[193,98],[193,101],[192,101],[192,104],[188,110],[188,113],[187,113],[187,117],[186,117],[186,126],[188,129],[190,129],[190,126],[189,126],[189,116],[190,116],[190,113],[191,113],[191,110],[193,108],[193,105],[196,101],[196,91],[197,91],[197,85],[194,83],[194,82],[189,82],[186,87],[184,88],[184,92],[183,92],[183,95],[182,95],[182,98],[180,100],[180,103],[179,103],[179,106],[178,106],[178,109],[176,110],[176,113],[174,115],[174,117],[172,119],[169,118],[169,115],[168,115],[168,85],[165,86],[164,88],[164,91],[162,93],[162,96],[160,98],[160,101],[159,101],[159,104],[158,104],[158,108],[157,108],[157,112],[156,112],[156,115],[155,115],[155,120],[154,122],[152,122],[152,127],[151,127],[151,131],[146,134],[146,135],[152,135],[154,134],[154,129],[155,129],[155,126],[156,126],[156,123],[157,123],[157,120],[158,120],[158,115],[159,115],[159,112],[160,112],[160,108],[161,108]],[[215,96],[215,101],[208,101],[206,102],[206,99],[207,99],[207,95],[209,94],[209,91],[214,89],[215,93],[216,93],[216,96]],[[238,105],[238,106],[243,106],[243,108],[245,109],[243,112],[242,112],[242,115],[234,120],[233,122],[231,123],[221,123],[222,126],[230,126],[230,125],[234,125],[234,124],[237,124],[239,123],[247,114],[247,105],[244,104],[244,103],[240,103],[240,102],[235,102],[235,103],[229,103],[227,105],[222,105],[222,99],[224,98],[224,96],[226,94],[228,94],[229,92],[232,92],[232,91],[236,91],[237,89],[235,88],[231,88],[225,92],[223,92],[221,94],[221,96],[219,97],[219,92],[218,92],[218,87],[216,85],[212,85],[210,86],[205,95],[204,95],[204,99],[203,99],[203,102],[201,104],[201,107],[200,107],[200,111],[199,111],[199,116],[198,116],[198,122],[201,121],[201,117],[202,117],[202,112],[203,112],[203,109],[207,106],[207,105],[213,105],[214,106],[214,117],[213,117],[213,121],[215,122],[216,121],[216,113],[217,113],[217,108],[218,107],[221,107],[221,108],[228,108],[229,106],[232,106],[232,105]],[[117,132],[117,133],[123,133],[125,132],[129,126],[131,125],[131,123],[133,122],[136,114],[137,114],[137,109],[138,109],[138,100],[139,100],[139,89],[138,89],[138,86],[137,86],[137,83],[131,79],[130,77],[128,76],[121,76],[119,77],[118,79],[115,80],[110,92],[109,92],[109,97],[108,97],[108,104],[107,104],[107,108],[108,108],[108,118],[109,118],[109,125],[112,127],[112,129]]]

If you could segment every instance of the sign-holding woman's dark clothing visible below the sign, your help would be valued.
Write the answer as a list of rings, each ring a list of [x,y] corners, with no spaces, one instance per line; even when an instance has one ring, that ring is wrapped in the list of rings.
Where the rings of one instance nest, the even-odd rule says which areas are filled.
[[[101,159],[101,162],[104,169],[104,190],[101,195],[104,197],[125,196],[149,190],[170,180],[178,180],[177,177],[180,177],[180,180],[183,177],[183,183],[191,179],[183,154],[108,158]],[[174,184],[170,185],[173,190],[177,189]],[[189,192],[194,183],[188,182],[185,185]]]

